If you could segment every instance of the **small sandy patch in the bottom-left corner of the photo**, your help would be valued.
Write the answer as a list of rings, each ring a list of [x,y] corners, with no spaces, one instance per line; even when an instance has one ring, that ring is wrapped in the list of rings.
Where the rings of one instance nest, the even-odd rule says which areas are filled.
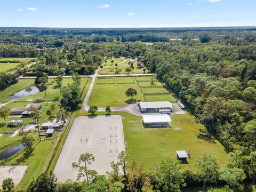
[[[27,169],[28,166],[25,165],[0,166],[0,189],[3,180],[7,178],[12,178],[15,186],[18,186]]]

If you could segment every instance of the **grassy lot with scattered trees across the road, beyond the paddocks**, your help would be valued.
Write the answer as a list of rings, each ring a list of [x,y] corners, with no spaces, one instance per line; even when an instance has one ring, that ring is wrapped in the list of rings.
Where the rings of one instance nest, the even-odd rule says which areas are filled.
[[[125,69],[126,68],[129,68],[130,67],[130,65],[128,64],[129,63],[129,59],[125,59],[126,61],[124,62],[124,63],[122,63],[122,64],[120,64],[120,65],[118,65],[117,66],[117,69],[122,69],[122,72],[120,73],[120,74],[127,74],[127,72],[125,72]],[[143,72],[143,68],[140,68],[140,69],[137,69],[136,67],[137,67],[137,60],[135,60],[135,63],[134,63],[134,69],[131,71],[131,72],[129,72],[129,74],[142,74],[142,73],[144,73]],[[104,66],[103,66],[104,67]],[[116,66],[114,65],[114,66],[112,66],[112,67],[109,67],[109,68],[106,68],[106,69],[103,69],[102,71],[103,71],[103,73],[101,73],[101,70],[99,70],[99,74],[100,75],[110,75],[110,74],[115,74],[115,70],[116,70]],[[146,72],[145,73],[147,73],[148,72],[148,70],[146,70]]]

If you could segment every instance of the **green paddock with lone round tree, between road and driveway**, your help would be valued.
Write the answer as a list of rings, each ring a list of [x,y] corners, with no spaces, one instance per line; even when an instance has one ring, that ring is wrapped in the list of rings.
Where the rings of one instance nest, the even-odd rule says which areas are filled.
[[[130,79],[127,79],[127,82],[130,82]],[[126,97],[125,91],[130,87],[137,90],[137,95],[134,97],[134,99],[143,100],[143,95],[137,84],[99,85],[95,83],[88,104],[89,106],[96,105],[98,107],[125,106],[127,105],[125,101],[130,99]]]

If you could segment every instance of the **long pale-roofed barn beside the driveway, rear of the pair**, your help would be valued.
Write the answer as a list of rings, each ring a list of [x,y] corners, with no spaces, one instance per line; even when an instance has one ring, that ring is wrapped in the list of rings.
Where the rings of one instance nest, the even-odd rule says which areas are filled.
[[[173,110],[172,103],[169,101],[139,102],[139,107],[142,112],[159,111],[160,109]]]

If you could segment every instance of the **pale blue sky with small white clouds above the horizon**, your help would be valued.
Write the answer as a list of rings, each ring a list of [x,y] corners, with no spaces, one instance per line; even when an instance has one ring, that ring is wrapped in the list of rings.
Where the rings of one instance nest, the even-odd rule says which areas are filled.
[[[0,0],[0,26],[256,26],[256,0]]]

